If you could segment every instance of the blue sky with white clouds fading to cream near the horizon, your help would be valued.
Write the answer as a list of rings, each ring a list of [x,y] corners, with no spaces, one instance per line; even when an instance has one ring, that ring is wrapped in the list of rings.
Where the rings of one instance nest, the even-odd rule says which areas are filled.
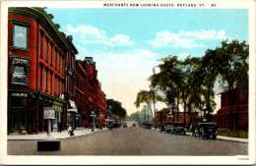
[[[48,8],[60,31],[73,35],[77,59],[93,57],[106,98],[122,102],[128,115],[141,110],[137,92],[149,90],[148,78],[160,59],[202,57],[224,39],[248,43],[246,9]],[[221,89],[216,85],[216,93]],[[216,96],[220,108],[220,95]],[[160,110],[164,105],[157,103]],[[216,112],[215,111],[215,112]]]

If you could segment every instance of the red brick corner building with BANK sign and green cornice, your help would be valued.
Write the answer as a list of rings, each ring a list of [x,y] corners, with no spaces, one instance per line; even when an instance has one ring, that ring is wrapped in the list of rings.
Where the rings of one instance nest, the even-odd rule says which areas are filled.
[[[64,68],[70,50],[58,25],[42,8],[9,8],[8,132],[46,131],[43,109],[54,107],[65,124]]]

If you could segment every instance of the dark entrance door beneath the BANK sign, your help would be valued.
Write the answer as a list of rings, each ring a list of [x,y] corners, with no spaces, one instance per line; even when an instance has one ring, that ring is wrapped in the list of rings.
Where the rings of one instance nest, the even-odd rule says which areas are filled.
[[[27,115],[25,112],[12,112],[12,131],[27,131]]]

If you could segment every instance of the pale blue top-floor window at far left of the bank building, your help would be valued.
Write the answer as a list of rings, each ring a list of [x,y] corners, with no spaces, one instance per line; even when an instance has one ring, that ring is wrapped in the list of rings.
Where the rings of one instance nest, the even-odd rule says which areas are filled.
[[[14,25],[14,46],[28,48],[28,27]]]

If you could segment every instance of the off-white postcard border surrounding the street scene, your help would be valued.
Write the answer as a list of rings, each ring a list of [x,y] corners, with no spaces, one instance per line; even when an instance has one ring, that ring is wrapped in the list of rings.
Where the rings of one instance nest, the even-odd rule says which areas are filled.
[[[0,56],[0,164],[253,164],[255,163],[255,2],[253,0],[193,1],[204,3],[202,9],[215,3],[219,9],[249,9],[249,155],[248,156],[19,156],[7,155],[7,9],[8,7],[106,8],[103,3],[191,3],[191,1],[9,1],[1,2]],[[108,7],[109,8],[109,7]],[[118,8],[118,7],[114,7]],[[182,8],[186,9],[186,7]],[[189,9],[189,8],[187,8]],[[213,8],[211,8],[213,9]],[[249,157],[249,160],[238,160]]]

